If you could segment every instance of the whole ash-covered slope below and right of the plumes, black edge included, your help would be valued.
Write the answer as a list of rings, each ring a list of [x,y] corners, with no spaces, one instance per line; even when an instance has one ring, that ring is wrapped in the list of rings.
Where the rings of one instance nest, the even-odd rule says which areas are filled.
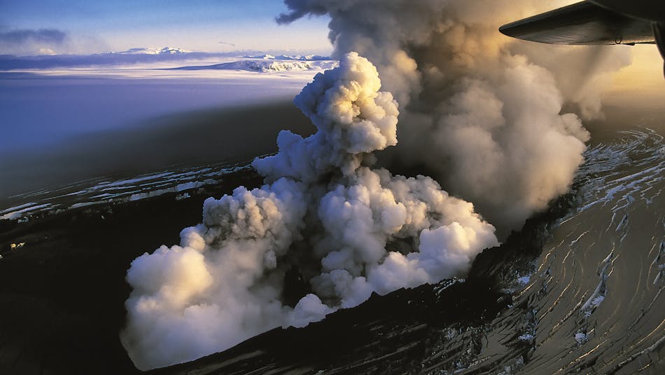
[[[373,294],[308,327],[151,373],[658,374],[662,142],[635,129],[591,146],[571,193],[479,254],[466,280]]]

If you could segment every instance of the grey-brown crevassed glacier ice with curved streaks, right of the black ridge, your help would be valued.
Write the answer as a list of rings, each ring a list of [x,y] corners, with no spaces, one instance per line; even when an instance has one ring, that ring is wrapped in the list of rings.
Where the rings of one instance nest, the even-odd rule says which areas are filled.
[[[643,355],[662,352],[665,337],[663,285],[653,282],[661,267],[656,260],[647,263],[665,234],[665,146],[648,128],[619,131],[617,137],[585,154],[575,184],[580,208],[554,232],[554,240],[563,240],[541,257],[552,275],[531,278],[533,284],[545,282],[546,292],[520,296],[539,311],[527,373],[631,372],[642,366],[632,363],[640,356],[642,364],[663,366],[662,357]],[[587,275],[593,269],[595,278]],[[554,295],[559,297],[552,301]]]

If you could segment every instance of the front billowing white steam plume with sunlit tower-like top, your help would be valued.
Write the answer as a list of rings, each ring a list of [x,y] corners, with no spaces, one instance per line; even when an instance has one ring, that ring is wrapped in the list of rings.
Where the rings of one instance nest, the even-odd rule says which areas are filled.
[[[281,132],[279,153],[254,161],[265,186],[209,198],[203,223],[183,230],[180,246],[132,262],[122,338],[139,368],[302,327],[372,292],[463,274],[497,245],[472,204],[433,179],[371,168],[373,151],[397,144],[398,104],[380,87],[369,61],[343,55],[295,99],[318,132]],[[284,280],[294,269],[311,290],[292,308]]]

